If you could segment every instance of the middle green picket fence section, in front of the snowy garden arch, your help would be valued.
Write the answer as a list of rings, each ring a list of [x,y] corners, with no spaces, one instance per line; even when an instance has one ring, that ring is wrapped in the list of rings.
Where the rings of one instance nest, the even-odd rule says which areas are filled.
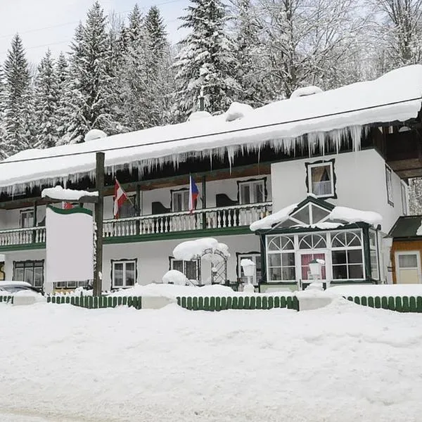
[[[177,304],[191,311],[223,311],[225,309],[272,309],[299,310],[295,296],[227,296],[227,297],[179,297]]]

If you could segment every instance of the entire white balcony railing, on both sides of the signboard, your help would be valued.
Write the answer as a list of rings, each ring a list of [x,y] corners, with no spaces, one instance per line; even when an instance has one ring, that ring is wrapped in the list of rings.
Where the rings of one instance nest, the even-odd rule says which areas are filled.
[[[104,237],[162,234],[177,231],[224,229],[249,226],[257,219],[271,213],[272,203],[235,205],[233,207],[205,208],[192,213],[169,212],[158,215],[142,215],[123,219],[104,220]],[[7,229],[0,231],[0,247],[27,245],[46,241],[45,226],[27,229]]]

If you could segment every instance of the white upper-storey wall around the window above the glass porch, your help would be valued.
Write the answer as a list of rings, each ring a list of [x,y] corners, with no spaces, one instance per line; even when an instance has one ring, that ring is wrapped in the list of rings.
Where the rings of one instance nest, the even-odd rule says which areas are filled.
[[[335,160],[335,191],[338,198],[327,201],[334,205],[378,212],[383,216],[382,230],[388,233],[402,214],[400,179],[392,173],[394,206],[391,206],[387,200],[385,160],[373,149],[272,164],[273,212],[307,197],[306,162],[332,158]]]

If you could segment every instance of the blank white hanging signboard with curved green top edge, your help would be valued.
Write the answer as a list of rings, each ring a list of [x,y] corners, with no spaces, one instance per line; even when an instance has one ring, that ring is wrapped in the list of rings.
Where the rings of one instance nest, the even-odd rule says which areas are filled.
[[[94,276],[94,222],[91,210],[46,209],[46,281],[85,281]]]

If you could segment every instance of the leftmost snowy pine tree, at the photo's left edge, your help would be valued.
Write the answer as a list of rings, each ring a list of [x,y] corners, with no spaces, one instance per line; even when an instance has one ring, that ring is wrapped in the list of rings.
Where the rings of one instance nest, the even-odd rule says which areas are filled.
[[[22,40],[16,34],[12,39],[4,63],[4,130],[6,139],[3,153],[12,155],[32,145],[32,92]]]

